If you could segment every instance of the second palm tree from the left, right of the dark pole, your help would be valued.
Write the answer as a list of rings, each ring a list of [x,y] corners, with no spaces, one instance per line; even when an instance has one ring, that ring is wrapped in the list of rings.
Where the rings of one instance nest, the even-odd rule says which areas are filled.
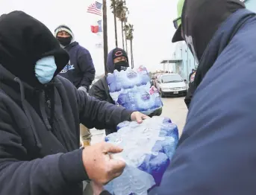
[[[124,39],[124,23],[127,22],[128,7],[125,6],[124,1],[116,1],[116,17],[121,21],[122,25],[122,48],[125,49]],[[126,48],[127,50],[127,48]]]

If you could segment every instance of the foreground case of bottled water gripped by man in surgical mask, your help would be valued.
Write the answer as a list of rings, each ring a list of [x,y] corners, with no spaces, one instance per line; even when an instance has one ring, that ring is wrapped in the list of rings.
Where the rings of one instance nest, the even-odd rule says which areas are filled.
[[[125,170],[104,188],[115,195],[146,195],[159,186],[178,144],[178,128],[169,118],[153,117],[142,124],[125,121],[105,141],[124,150],[113,154]]]

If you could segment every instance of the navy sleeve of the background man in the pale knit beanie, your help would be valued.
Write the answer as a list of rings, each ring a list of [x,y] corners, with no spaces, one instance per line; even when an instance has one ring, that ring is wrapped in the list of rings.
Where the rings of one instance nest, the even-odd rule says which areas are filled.
[[[80,50],[78,51],[78,66],[83,72],[81,86],[86,86],[87,89],[89,89],[89,86],[92,84],[95,78],[96,71],[90,52],[87,51],[87,49],[85,48],[80,48]]]

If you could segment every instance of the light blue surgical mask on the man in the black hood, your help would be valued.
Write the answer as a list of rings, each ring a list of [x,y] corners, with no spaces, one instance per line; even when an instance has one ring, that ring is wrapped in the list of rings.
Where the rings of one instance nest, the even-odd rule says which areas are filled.
[[[49,83],[54,77],[54,73],[57,69],[54,57],[43,57],[38,60],[35,66],[36,77],[40,83]]]

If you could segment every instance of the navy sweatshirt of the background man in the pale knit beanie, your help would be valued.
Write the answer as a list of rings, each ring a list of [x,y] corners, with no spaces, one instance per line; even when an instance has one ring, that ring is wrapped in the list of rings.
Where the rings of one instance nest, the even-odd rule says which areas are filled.
[[[90,52],[81,47],[78,42],[72,42],[65,47],[69,53],[69,63],[60,71],[60,76],[65,77],[78,89],[85,86],[89,89],[95,77],[95,68]]]

